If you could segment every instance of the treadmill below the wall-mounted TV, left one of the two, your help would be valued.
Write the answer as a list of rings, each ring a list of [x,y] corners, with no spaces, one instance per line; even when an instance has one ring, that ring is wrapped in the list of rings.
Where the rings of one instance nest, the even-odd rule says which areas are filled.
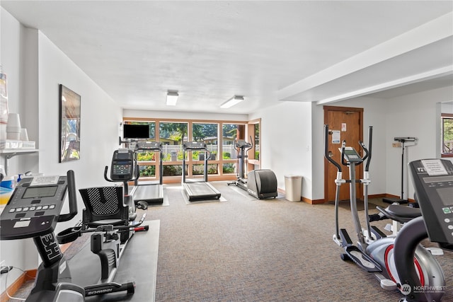
[[[164,202],[164,189],[162,186],[162,179],[164,178],[162,144],[159,141],[137,141],[136,151],[159,152],[159,182],[139,183],[139,177],[137,176],[134,181],[134,203],[147,202],[147,204],[162,204]]]

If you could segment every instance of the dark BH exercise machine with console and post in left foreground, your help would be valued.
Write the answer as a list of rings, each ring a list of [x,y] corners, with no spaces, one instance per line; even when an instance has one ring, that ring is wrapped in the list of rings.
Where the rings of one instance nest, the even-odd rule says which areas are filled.
[[[60,214],[69,194],[69,213]],[[74,172],[67,176],[24,178],[0,215],[1,240],[33,238],[42,259],[27,302],[83,302],[85,290],[71,283],[67,260],[55,238],[57,222],[77,214]]]

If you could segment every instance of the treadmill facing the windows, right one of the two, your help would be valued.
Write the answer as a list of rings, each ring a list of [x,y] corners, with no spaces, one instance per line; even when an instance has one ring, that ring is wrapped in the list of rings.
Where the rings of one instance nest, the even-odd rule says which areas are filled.
[[[190,202],[207,199],[219,199],[220,192],[217,191],[209,182],[207,182],[207,158],[209,157],[209,151],[205,143],[201,141],[188,141],[183,143],[183,190],[187,195]],[[203,170],[203,180],[190,180],[187,181],[185,178],[186,166],[185,166],[185,151],[202,151],[205,152],[205,166]]]

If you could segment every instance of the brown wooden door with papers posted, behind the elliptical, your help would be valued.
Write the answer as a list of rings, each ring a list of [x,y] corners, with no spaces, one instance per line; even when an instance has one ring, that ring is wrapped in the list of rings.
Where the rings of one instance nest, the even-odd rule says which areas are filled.
[[[331,151],[332,158],[341,165],[341,148],[343,141],[346,141],[346,146],[352,146],[360,156],[363,156],[362,148],[359,141],[363,141],[362,118],[363,108],[346,108],[324,106],[324,124],[328,124],[328,151]],[[348,166],[341,165],[343,171],[343,179],[349,179]],[[332,163],[324,160],[324,199],[325,202],[335,200],[336,184],[335,179],[337,168]],[[358,165],[355,168],[356,179],[362,178],[363,165]],[[340,200],[350,199],[349,184],[345,183],[340,186]],[[362,185],[356,185],[357,198],[362,197]]]

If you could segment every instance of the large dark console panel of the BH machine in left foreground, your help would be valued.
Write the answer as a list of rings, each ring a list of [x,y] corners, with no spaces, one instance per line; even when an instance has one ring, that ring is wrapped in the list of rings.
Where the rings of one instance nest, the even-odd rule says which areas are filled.
[[[67,176],[23,178],[1,212],[0,239],[33,238],[52,232],[67,187]]]

